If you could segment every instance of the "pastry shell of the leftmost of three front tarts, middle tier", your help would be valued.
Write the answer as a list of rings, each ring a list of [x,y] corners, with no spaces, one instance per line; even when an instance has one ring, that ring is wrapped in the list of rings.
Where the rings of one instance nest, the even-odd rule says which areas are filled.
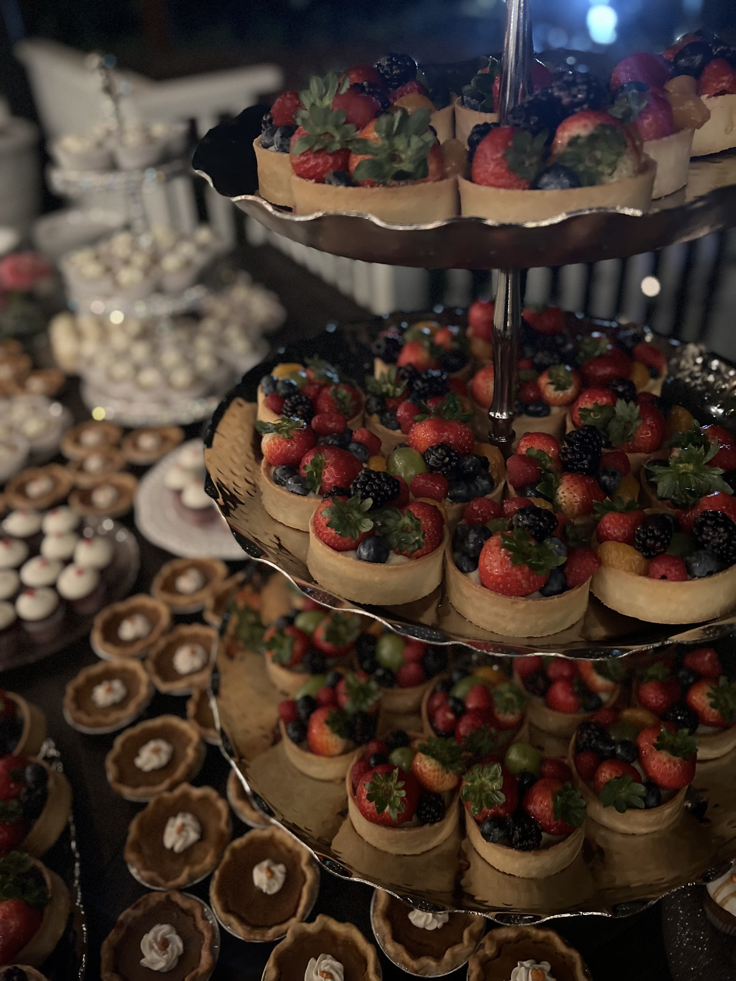
[[[410,603],[432,593],[442,582],[443,556],[448,546],[447,525],[443,541],[428,555],[407,562],[361,562],[334,551],[314,532],[314,517],[309,522],[307,568],[315,580],[345,599],[378,606]]]

